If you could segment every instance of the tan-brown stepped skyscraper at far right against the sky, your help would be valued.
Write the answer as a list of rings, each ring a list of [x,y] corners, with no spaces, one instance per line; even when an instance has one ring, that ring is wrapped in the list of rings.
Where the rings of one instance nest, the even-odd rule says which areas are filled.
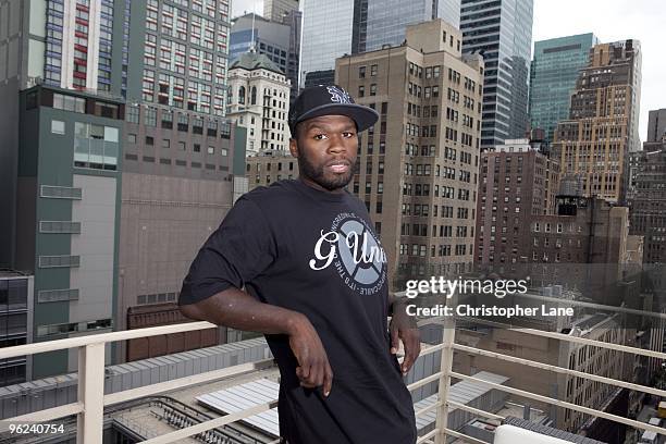
[[[581,177],[584,196],[624,199],[627,153],[639,149],[640,66],[639,41],[625,40],[594,46],[580,71],[553,152],[564,174]]]

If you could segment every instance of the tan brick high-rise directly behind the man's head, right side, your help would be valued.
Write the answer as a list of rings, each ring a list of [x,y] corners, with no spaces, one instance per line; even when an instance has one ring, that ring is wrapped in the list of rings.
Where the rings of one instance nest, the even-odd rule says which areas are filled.
[[[460,32],[444,21],[406,35],[406,45],[335,65],[336,83],[380,114],[361,135],[351,187],[397,282],[471,268],[483,78],[481,57],[462,55],[452,45]]]

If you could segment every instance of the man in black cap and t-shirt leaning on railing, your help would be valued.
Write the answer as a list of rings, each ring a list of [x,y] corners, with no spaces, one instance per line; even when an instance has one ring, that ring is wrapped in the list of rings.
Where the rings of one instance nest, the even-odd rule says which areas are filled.
[[[344,189],[357,133],[377,120],[337,86],[305,89],[289,113],[299,180],[238,199],[183,283],[188,318],[266,334],[288,444],[416,442],[402,378],[420,353],[418,329],[403,305],[390,307],[384,250],[365,205]]]

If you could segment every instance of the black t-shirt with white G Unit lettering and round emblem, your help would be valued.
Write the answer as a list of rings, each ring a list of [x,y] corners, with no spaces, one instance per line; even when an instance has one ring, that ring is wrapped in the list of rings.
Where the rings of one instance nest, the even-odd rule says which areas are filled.
[[[266,335],[289,444],[414,444],[411,396],[390,351],[386,258],[363,203],[300,181],[238,199],[208,238],[178,303],[231,286],[307,316],[333,369],[331,394],[299,385],[286,335]]]

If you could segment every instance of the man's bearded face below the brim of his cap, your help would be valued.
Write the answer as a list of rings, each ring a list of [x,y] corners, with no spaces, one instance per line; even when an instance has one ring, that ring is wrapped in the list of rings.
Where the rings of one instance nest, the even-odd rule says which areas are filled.
[[[316,188],[342,192],[356,164],[356,124],[346,115],[322,115],[298,124],[289,140],[292,156],[298,158],[300,178]]]

